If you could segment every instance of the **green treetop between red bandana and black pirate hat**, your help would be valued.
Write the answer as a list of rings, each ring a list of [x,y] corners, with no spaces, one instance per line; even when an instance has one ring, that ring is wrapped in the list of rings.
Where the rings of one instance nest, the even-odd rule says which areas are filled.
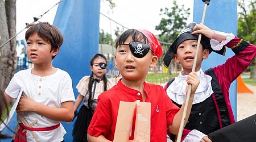
[[[168,9],[160,9],[160,15],[164,16],[160,20],[158,26],[155,30],[161,31],[159,35],[159,40],[166,43],[172,43],[176,39],[179,32],[186,26],[187,19],[189,16],[189,8],[185,9],[184,5],[181,8],[177,5],[176,1],[173,1],[173,7]]]

